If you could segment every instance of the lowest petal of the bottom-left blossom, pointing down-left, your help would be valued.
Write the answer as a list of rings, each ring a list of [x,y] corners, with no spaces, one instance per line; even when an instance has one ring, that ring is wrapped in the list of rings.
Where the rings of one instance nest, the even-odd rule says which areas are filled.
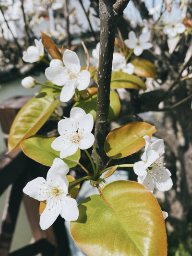
[[[60,215],[61,209],[62,206],[60,200],[54,205],[52,205],[52,202],[47,203],[45,210],[40,216],[39,224],[42,230],[48,229],[53,224],[53,222]]]

